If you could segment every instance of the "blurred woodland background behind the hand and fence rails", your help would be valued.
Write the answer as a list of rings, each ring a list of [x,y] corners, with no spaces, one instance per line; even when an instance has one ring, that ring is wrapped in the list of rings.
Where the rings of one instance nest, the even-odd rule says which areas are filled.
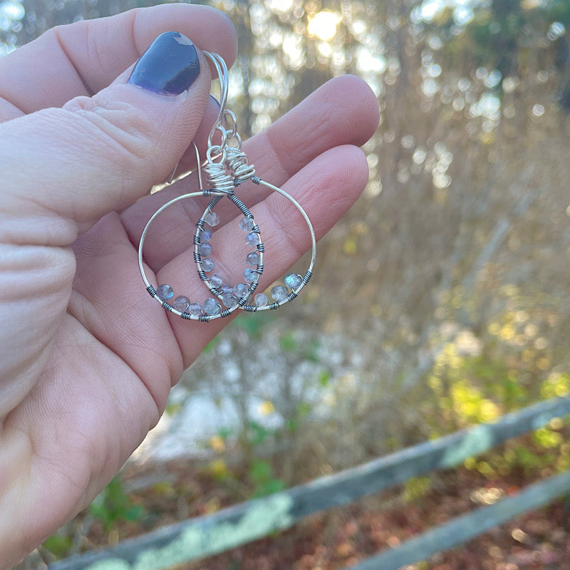
[[[0,1],[0,54],[57,24],[156,3]],[[239,33],[229,108],[244,138],[333,76],[368,82],[381,109],[364,146],[370,180],[319,244],[304,295],[215,339],[123,474],[27,567],[570,391],[570,3],[208,4]],[[340,568],[568,469],[568,435],[553,421],[185,568]],[[567,515],[549,509],[410,569],[563,568]]]

